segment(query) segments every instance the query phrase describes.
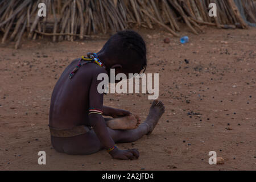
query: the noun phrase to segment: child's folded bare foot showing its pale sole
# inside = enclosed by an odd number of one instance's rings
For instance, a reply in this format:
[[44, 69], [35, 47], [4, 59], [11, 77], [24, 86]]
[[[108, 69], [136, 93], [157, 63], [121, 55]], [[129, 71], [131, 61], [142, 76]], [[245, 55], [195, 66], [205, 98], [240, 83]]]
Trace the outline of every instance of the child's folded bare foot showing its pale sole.
[[114, 118], [106, 122], [106, 125], [113, 130], [133, 130], [137, 129], [141, 119], [137, 115], [130, 114], [122, 118]]

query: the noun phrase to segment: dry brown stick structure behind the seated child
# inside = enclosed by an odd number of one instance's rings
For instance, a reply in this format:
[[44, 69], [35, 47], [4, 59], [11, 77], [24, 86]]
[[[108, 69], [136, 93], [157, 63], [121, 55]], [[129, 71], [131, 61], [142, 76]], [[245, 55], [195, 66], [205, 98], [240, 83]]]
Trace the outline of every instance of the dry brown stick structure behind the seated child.
[[[241, 0], [238, 0], [241, 1]], [[46, 4], [46, 17], [38, 16], [38, 4]], [[208, 5], [217, 5], [217, 17], [208, 15]], [[255, 1], [243, 0], [246, 18], [256, 22]], [[179, 36], [177, 22], [184, 22], [194, 34], [200, 24], [218, 28], [247, 28], [234, 0], [3, 0], [0, 1], [2, 43], [23, 35], [35, 40], [52, 36], [52, 41], [75, 40], [107, 34], [135, 25], [153, 28], [158, 24]]]

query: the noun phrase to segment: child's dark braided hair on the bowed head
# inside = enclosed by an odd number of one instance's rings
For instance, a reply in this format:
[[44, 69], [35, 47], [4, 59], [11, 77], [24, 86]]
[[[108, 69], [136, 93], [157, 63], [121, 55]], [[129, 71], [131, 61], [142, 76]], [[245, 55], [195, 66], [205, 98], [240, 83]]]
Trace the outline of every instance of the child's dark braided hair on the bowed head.
[[122, 64], [127, 66], [141, 64], [141, 70], [146, 70], [146, 44], [141, 35], [133, 30], [119, 31], [114, 34], [106, 42], [102, 51], [114, 60], [122, 60]]

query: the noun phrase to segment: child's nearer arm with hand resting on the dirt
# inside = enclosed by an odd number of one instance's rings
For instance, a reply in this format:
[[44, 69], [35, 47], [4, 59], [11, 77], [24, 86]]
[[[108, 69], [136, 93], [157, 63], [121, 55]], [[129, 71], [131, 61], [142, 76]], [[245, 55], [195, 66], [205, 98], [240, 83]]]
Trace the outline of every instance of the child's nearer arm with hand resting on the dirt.
[[[98, 93], [97, 86], [101, 82], [97, 80], [98, 74], [102, 72], [101, 69], [97, 69], [94, 72], [92, 78], [92, 84], [90, 85], [89, 91], [89, 107], [94, 107], [96, 109], [102, 110], [103, 107], [103, 94]], [[93, 127], [98, 139], [105, 146], [106, 149], [112, 148], [114, 146], [114, 140], [110, 137], [109, 131], [106, 127], [106, 122], [102, 115], [100, 114], [89, 114], [89, 122]], [[114, 159], [135, 159], [139, 157], [137, 150], [123, 151], [115, 148], [109, 153]]]

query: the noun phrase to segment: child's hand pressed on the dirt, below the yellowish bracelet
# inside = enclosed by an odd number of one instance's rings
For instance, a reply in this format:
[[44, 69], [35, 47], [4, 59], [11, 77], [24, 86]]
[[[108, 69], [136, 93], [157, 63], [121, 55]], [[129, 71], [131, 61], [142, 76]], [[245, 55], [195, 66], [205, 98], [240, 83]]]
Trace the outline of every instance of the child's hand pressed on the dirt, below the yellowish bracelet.
[[121, 160], [133, 160], [139, 158], [139, 151], [136, 149], [132, 150], [119, 150], [118, 148], [109, 152], [113, 159], [121, 159]]

